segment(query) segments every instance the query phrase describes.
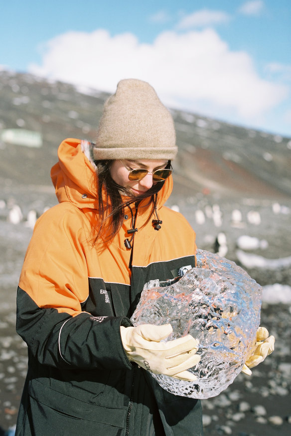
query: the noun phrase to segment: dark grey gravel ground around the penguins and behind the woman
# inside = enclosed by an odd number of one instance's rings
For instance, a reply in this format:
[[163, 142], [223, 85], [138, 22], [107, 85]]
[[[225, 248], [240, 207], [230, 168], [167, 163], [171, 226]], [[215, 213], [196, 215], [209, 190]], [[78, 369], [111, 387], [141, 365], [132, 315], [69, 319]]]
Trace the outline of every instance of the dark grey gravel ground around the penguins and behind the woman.
[[[22, 194], [24, 195], [19, 187], [19, 197], [16, 192], [12, 195], [10, 193], [10, 196], [16, 198], [25, 215], [32, 208], [32, 204], [29, 204], [29, 201], [23, 201], [21, 204]], [[38, 213], [44, 206], [52, 205], [51, 194], [49, 192], [45, 198], [42, 192], [33, 199], [33, 206]], [[31, 193], [27, 195], [31, 196]], [[8, 195], [4, 200], [7, 202]], [[183, 207], [180, 209], [190, 222], [192, 220], [199, 248], [211, 251], [215, 235], [219, 231], [224, 231], [229, 248], [225, 257], [228, 259], [237, 261], [235, 241], [240, 235], [257, 235], [259, 239], [268, 240], [272, 250], [257, 254], [271, 259], [290, 256], [290, 214], [272, 215], [271, 203], [267, 206], [258, 206], [262, 216], [260, 226], [246, 224], [242, 229], [232, 229], [230, 225], [228, 217], [234, 205], [221, 205], [224, 215], [220, 228], [215, 228], [210, 219], [202, 225], [195, 223], [193, 217], [197, 206], [192, 205], [192, 212], [190, 206], [185, 207], [185, 210]], [[254, 208], [254, 205], [244, 207], [242, 211], [246, 215], [248, 209]], [[26, 345], [15, 332], [15, 297], [25, 249], [32, 233], [32, 230], [24, 225], [25, 218], [18, 225], [13, 225], [6, 221], [5, 213], [5, 210], [0, 213], [0, 436], [16, 423], [26, 375]], [[291, 286], [290, 267], [274, 271], [257, 268], [249, 271], [249, 274], [264, 286], [276, 282]], [[261, 324], [276, 338], [275, 352], [266, 362], [253, 370], [251, 377], [240, 374], [219, 396], [202, 400], [205, 436], [291, 434], [291, 304], [264, 303], [261, 319]]]

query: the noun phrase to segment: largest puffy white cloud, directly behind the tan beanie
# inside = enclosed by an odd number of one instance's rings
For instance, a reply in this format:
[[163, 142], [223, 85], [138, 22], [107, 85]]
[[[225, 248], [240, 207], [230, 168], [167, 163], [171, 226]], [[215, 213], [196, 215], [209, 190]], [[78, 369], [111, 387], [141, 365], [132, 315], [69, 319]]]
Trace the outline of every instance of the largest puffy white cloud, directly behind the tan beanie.
[[68, 32], [46, 44], [29, 71], [114, 92], [119, 80], [149, 82], [170, 107], [241, 123], [259, 120], [287, 97], [288, 87], [263, 80], [246, 52], [231, 51], [213, 29], [162, 32], [152, 44], [131, 33]]

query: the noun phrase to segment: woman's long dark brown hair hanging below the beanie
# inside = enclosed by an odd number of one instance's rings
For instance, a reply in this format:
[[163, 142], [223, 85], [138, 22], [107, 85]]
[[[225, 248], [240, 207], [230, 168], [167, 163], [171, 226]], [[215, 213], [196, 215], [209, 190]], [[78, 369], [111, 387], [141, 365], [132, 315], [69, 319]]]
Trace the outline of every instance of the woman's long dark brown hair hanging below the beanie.
[[[113, 239], [124, 222], [125, 208], [127, 206], [130, 207], [133, 203], [138, 205], [145, 198], [148, 198], [145, 207], [151, 205], [151, 213], [146, 221], [147, 223], [155, 211], [157, 193], [164, 184], [164, 181], [155, 183], [144, 194], [133, 195], [131, 191], [116, 183], [111, 177], [110, 168], [113, 161], [111, 159], [94, 161], [97, 167], [97, 195], [100, 220], [95, 243], [98, 243], [100, 235], [107, 242]], [[166, 168], [170, 168], [170, 166], [171, 162], [168, 161]], [[126, 197], [126, 200], [123, 197]]]

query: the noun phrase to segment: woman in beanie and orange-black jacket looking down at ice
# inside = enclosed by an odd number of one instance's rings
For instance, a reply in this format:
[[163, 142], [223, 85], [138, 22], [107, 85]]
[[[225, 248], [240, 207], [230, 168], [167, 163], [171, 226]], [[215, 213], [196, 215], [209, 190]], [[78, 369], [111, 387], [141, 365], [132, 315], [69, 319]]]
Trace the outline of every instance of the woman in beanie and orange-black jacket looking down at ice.
[[96, 145], [64, 141], [59, 204], [37, 221], [17, 292], [28, 374], [16, 435], [202, 435], [200, 402], [149, 372], [193, 380], [189, 335], [129, 318], [152, 279], [195, 266], [195, 233], [163, 206], [176, 155], [170, 113], [146, 82], [122, 80]]

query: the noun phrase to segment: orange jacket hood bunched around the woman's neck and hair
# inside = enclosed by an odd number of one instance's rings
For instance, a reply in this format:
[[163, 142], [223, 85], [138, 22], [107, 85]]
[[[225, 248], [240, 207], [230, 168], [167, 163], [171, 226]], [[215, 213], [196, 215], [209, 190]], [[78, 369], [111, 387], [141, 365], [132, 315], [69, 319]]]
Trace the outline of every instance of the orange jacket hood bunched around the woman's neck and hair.
[[[59, 161], [51, 169], [51, 179], [59, 203], [70, 201], [80, 209], [98, 209], [96, 166], [92, 158], [93, 144], [66, 139], [58, 148]], [[172, 176], [158, 192], [158, 208], [170, 196]]]

